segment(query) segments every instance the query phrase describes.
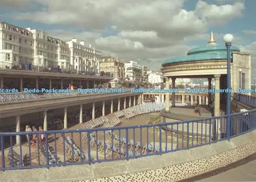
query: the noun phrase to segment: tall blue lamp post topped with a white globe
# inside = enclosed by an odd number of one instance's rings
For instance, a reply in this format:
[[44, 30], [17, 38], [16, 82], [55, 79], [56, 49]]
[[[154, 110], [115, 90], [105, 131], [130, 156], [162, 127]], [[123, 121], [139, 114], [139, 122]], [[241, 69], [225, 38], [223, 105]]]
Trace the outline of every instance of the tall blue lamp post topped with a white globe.
[[225, 41], [225, 45], [227, 48], [227, 105], [226, 105], [226, 115], [227, 115], [227, 140], [230, 139], [230, 131], [231, 131], [231, 121], [230, 121], [230, 113], [231, 113], [231, 93], [229, 89], [231, 89], [231, 77], [230, 77], [230, 47], [231, 41], [233, 40], [233, 36], [231, 34], [226, 34], [223, 37]]

